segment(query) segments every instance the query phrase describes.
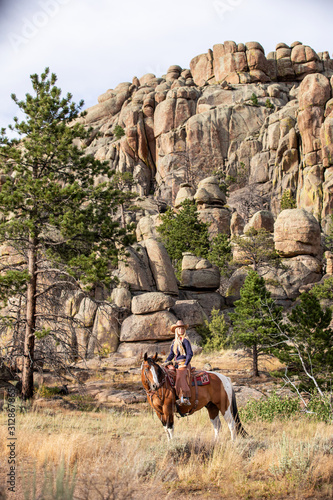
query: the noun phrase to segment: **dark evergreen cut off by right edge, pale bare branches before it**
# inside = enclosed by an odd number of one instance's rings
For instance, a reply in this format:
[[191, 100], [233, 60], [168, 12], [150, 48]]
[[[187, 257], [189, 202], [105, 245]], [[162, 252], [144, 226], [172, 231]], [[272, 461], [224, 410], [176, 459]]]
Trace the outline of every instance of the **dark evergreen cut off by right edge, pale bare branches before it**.
[[[283, 326], [285, 343], [275, 355], [308, 389], [330, 389], [333, 373], [333, 332], [329, 328], [332, 311], [322, 309], [318, 298], [303, 293]], [[317, 387], [317, 388], [318, 388]]]

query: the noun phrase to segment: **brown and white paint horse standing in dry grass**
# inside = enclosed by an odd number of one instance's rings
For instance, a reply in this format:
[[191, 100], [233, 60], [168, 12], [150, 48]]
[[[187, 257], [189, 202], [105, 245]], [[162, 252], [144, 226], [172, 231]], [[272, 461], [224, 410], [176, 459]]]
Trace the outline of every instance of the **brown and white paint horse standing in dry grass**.
[[173, 437], [175, 411], [184, 416], [191, 415], [204, 406], [207, 408], [213, 424], [215, 437], [218, 436], [221, 428], [219, 412], [222, 413], [228, 424], [232, 440], [237, 435], [247, 435], [239, 418], [235, 392], [228, 377], [221, 373], [207, 372], [210, 383], [197, 387], [197, 393], [196, 388], [192, 386], [191, 406], [179, 407], [176, 404], [176, 393], [170, 384], [169, 377], [157, 361], [157, 354], [150, 358], [145, 353], [141, 366], [141, 380], [148, 402], [161, 420], [169, 439]]

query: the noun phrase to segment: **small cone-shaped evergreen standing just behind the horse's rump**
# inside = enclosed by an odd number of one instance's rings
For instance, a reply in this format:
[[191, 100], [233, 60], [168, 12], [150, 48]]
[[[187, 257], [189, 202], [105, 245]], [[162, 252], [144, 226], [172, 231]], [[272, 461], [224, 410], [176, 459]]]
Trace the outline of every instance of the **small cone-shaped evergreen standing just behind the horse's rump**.
[[259, 356], [270, 353], [279, 342], [276, 323], [281, 321], [281, 308], [271, 299], [264, 279], [252, 269], [240, 295], [240, 300], [235, 302], [235, 312], [230, 315], [233, 343], [251, 353], [252, 374], [257, 377]]

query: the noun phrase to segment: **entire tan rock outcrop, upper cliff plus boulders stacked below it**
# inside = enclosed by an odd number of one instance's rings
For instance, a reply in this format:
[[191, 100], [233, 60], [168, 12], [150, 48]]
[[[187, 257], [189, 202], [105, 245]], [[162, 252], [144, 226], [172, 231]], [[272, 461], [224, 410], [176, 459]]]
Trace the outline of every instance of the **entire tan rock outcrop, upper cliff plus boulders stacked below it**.
[[[226, 41], [194, 57], [190, 69], [172, 65], [163, 77], [134, 77], [98, 98], [80, 118], [91, 127], [80, 146], [110, 171], [132, 174], [138, 197], [125, 222], [136, 224], [138, 243], [114, 271], [116, 288], [66, 295], [64, 314], [75, 324], [71, 357], [164, 355], [171, 324], [182, 319], [198, 340], [195, 327], [212, 309], [239, 297], [248, 262], [235, 248], [244, 267], [223, 295], [219, 269], [189, 253], [177, 280], [156, 228], [161, 213], [180, 210], [186, 199], [197, 203], [211, 239], [270, 233], [284, 264], [265, 274], [275, 299], [295, 299], [321, 280], [322, 233], [333, 212], [332, 87], [328, 52], [294, 42], [266, 55], [258, 42]], [[297, 208], [281, 211], [286, 192]], [[326, 253], [328, 275], [332, 262]], [[22, 257], [3, 245], [1, 268], [8, 263], [19, 267]]]

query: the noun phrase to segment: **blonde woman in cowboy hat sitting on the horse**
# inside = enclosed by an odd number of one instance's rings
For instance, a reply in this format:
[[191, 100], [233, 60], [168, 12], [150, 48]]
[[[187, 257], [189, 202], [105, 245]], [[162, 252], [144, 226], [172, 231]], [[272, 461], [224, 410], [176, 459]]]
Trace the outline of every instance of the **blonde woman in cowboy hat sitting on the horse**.
[[177, 404], [191, 406], [190, 397], [191, 389], [189, 387], [191, 378], [191, 359], [193, 351], [191, 342], [186, 334], [188, 325], [185, 325], [181, 320], [172, 325], [170, 330], [175, 334], [175, 340], [171, 344], [170, 354], [167, 357], [165, 364], [168, 365], [170, 361], [175, 358], [177, 369], [176, 372], [176, 393], [179, 397]]

